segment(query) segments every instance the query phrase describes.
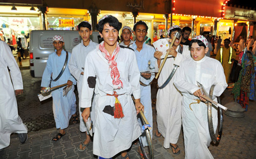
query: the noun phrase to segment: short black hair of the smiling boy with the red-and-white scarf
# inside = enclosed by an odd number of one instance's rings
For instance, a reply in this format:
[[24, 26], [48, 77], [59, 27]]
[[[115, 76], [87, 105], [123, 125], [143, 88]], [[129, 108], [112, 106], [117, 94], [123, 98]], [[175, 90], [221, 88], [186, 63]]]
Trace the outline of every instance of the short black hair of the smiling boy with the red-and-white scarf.
[[115, 28], [118, 32], [122, 28], [122, 23], [118, 21], [118, 19], [112, 15], [105, 17], [104, 19], [100, 20], [96, 26], [97, 31], [102, 33], [104, 25], [109, 23], [110, 26]]

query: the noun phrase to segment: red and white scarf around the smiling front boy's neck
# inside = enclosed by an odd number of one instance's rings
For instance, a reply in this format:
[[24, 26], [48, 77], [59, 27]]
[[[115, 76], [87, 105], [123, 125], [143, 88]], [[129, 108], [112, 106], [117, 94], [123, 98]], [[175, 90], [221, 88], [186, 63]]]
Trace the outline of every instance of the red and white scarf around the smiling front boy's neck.
[[115, 57], [116, 57], [117, 53], [120, 50], [120, 46], [119, 46], [119, 44], [117, 44], [117, 47], [116, 47], [112, 57], [110, 57], [108, 55], [108, 51], [105, 49], [104, 46], [105, 46], [104, 42], [99, 44], [99, 50], [105, 54], [105, 59], [108, 60], [109, 66], [111, 68], [110, 74], [111, 74], [111, 78], [113, 79], [112, 83], [114, 85], [114, 89], [123, 88], [123, 83], [122, 83], [121, 80], [119, 80], [120, 74], [119, 74], [119, 71], [117, 69], [117, 63], [115, 61]]

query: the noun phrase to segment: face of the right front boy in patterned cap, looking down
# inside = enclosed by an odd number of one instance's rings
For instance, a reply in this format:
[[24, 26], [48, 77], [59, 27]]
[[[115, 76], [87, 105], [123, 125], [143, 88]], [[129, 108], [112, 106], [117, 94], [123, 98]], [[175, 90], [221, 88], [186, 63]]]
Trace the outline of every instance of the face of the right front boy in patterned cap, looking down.
[[190, 47], [190, 52], [191, 52], [191, 57], [195, 61], [200, 61], [201, 59], [204, 58], [205, 54], [208, 51], [208, 47], [204, 49], [204, 46], [199, 46], [197, 42], [192, 43]]

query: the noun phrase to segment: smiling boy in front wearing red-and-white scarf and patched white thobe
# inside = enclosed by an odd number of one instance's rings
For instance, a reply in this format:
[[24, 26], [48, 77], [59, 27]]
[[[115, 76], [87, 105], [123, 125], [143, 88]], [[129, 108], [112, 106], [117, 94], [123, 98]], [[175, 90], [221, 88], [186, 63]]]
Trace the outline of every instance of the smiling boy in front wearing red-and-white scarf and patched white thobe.
[[81, 107], [85, 109], [82, 117], [87, 121], [94, 92], [93, 153], [99, 158], [111, 158], [119, 152], [121, 158], [129, 158], [126, 150], [141, 135], [136, 116], [136, 110], [139, 113], [143, 108], [140, 72], [134, 51], [117, 42], [121, 26], [122, 23], [111, 15], [99, 20], [97, 30], [104, 41], [87, 55], [84, 65]]

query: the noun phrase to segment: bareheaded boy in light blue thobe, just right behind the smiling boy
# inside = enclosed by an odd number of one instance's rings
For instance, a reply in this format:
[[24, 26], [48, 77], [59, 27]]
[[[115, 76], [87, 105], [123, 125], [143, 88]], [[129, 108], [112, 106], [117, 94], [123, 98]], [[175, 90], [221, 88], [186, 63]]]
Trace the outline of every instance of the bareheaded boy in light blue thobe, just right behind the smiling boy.
[[[134, 49], [136, 60], [139, 66], [140, 72], [143, 71], [153, 71], [155, 72], [155, 64], [156, 58], [154, 57], [155, 48], [144, 43], [145, 36], [147, 35], [147, 25], [144, 21], [138, 21], [134, 25], [134, 35], [136, 36], [135, 42], [130, 45], [131, 48]], [[152, 115], [152, 102], [151, 102], [151, 86], [150, 84], [154, 80], [155, 73], [141, 73], [140, 76], [140, 102], [144, 105], [144, 115], [150, 123], [152, 129], [150, 130], [150, 134], [152, 137], [153, 131], [153, 115]], [[142, 122], [140, 118], [138, 119], [140, 125], [142, 126]], [[143, 133], [143, 131], [142, 131]], [[142, 143], [143, 146], [148, 146], [146, 134], [142, 135]], [[141, 153], [140, 147], [138, 148], [141, 157], [143, 157]]]

